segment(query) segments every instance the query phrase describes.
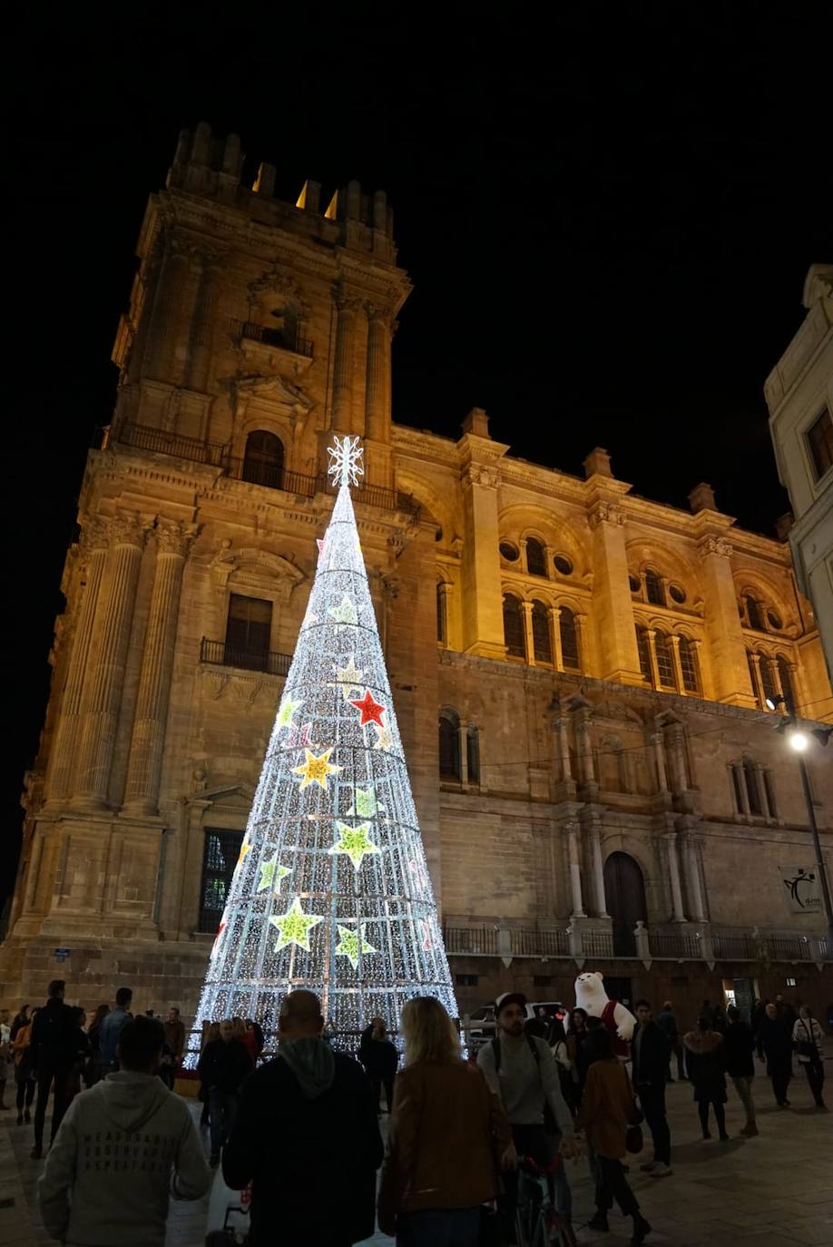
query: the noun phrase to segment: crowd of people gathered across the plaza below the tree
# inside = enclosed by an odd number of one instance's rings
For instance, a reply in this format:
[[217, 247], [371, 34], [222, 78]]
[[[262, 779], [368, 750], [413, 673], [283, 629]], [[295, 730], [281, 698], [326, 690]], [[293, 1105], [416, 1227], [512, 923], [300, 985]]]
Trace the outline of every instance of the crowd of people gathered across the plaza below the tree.
[[464, 1056], [454, 1021], [421, 996], [403, 1009], [399, 1069], [384, 1018], [362, 1033], [357, 1061], [338, 1050], [318, 998], [296, 990], [282, 1001], [277, 1060], [262, 1061], [254, 1020], [203, 1023], [196, 1075], [206, 1155], [186, 1101], [173, 1094], [186, 1051], [178, 1009], [165, 1023], [150, 1011], [135, 1016], [131, 990], [120, 988], [115, 1006], [100, 1005], [86, 1026], [64, 994], [55, 980], [41, 1008], [24, 1005], [11, 1023], [0, 1013], [0, 1106], [12, 1084], [25, 1125], [37, 1096], [37, 1160], [51, 1096], [39, 1203], [46, 1230], [77, 1247], [110, 1241], [110, 1227], [127, 1247], [162, 1247], [168, 1193], [198, 1198], [219, 1165], [231, 1188], [251, 1183], [252, 1247], [272, 1242], [276, 1221], [308, 1247], [347, 1247], [373, 1235], [377, 1215], [399, 1247], [513, 1243], [522, 1172], [545, 1176], [551, 1228], [571, 1242], [565, 1160], [581, 1155], [595, 1190], [590, 1228], [607, 1231], [617, 1203], [632, 1220], [631, 1243], [642, 1243], [651, 1226], [625, 1160], [641, 1150], [643, 1122], [653, 1156], [641, 1170], [672, 1175], [666, 1085], [675, 1062], [677, 1080], [691, 1084], [705, 1140], [712, 1117], [720, 1140], [728, 1139], [727, 1079], [744, 1112], [741, 1135], [758, 1134], [756, 1051], [778, 1106], [789, 1107], [796, 1059], [824, 1109], [824, 1033], [807, 1006], [782, 998], [757, 1003], [751, 1024], [733, 1006], [725, 1014], [703, 1001], [685, 1034], [670, 1001], [655, 1016], [638, 1000], [625, 1061], [601, 1018], [580, 1008], [530, 1018], [520, 993], [496, 1001], [494, 1038]]

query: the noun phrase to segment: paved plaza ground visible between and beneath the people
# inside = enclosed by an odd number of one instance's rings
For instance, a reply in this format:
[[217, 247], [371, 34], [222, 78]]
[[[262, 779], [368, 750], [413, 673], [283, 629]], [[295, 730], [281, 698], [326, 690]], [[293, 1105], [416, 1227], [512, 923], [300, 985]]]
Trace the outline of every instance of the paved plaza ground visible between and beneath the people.
[[[828, 1051], [828, 1100], [833, 1105], [833, 1051]], [[652, 1180], [638, 1172], [633, 1157], [631, 1182], [655, 1232], [656, 1247], [759, 1247], [773, 1243], [833, 1245], [833, 1112], [818, 1112], [803, 1075], [791, 1085], [792, 1109], [776, 1107], [769, 1081], [754, 1085], [758, 1105], [757, 1139], [738, 1137], [741, 1106], [729, 1087], [727, 1124], [731, 1140], [703, 1142], [691, 1089], [668, 1087], [672, 1135], [671, 1177]], [[6, 1096], [9, 1090], [6, 1091]], [[195, 1109], [197, 1106], [195, 1105]], [[384, 1119], [383, 1119], [384, 1121]], [[47, 1135], [49, 1137], [49, 1127]], [[646, 1131], [646, 1152], [650, 1156]], [[45, 1247], [46, 1237], [35, 1205], [35, 1183], [42, 1161], [30, 1160], [31, 1126], [15, 1125], [15, 1114], [0, 1114], [0, 1243], [4, 1247]], [[575, 1197], [575, 1223], [594, 1212], [592, 1187], [585, 1160], [567, 1172]], [[202, 1247], [208, 1200], [171, 1206], [166, 1247]], [[627, 1242], [630, 1221], [611, 1215], [611, 1233], [579, 1232], [582, 1243]], [[282, 1247], [276, 1235], [276, 1247]], [[390, 1247], [377, 1235], [367, 1247]], [[287, 1245], [289, 1247], [289, 1245]]]

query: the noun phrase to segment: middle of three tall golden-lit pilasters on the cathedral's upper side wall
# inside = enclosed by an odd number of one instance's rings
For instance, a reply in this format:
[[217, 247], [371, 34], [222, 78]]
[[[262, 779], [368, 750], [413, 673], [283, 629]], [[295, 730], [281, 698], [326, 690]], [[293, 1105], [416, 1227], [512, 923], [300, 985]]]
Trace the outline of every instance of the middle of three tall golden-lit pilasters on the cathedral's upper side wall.
[[627, 580], [625, 516], [601, 500], [590, 513], [594, 536], [594, 619], [602, 680], [643, 685]]

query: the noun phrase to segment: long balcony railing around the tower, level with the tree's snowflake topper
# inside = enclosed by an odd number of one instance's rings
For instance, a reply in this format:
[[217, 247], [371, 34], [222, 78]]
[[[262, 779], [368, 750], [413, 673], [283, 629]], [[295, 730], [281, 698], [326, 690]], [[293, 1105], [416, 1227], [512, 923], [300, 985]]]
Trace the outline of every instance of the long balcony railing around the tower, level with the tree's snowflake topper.
[[[281, 489], [287, 494], [297, 494], [302, 498], [338, 493], [338, 485], [325, 473], [312, 476], [306, 473], [288, 471], [278, 464], [269, 464], [261, 459], [241, 459], [229, 454], [217, 441], [185, 438], [143, 424], [122, 424], [111, 435], [111, 441], [131, 446], [135, 450], [148, 450], [152, 454], [207, 464], [211, 468], [218, 468], [234, 480], [244, 480], [266, 489]], [[419, 503], [413, 495], [403, 494], [395, 489], [385, 489], [383, 485], [355, 485], [352, 494], [354, 501], [375, 506], [383, 511], [402, 511], [405, 515], [416, 515], [419, 511]]]

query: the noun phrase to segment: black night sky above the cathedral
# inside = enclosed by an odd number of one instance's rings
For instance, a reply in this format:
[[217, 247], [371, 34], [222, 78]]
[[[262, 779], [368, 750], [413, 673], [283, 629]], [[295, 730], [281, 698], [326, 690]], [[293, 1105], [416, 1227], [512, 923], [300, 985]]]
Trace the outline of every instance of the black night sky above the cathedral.
[[788, 506], [762, 385], [833, 253], [821, 4], [90, 7], [6, 17], [0, 904], [85, 454], [182, 126], [239, 133], [248, 183], [267, 160], [293, 202], [307, 177], [388, 191], [415, 287], [394, 419], [456, 436], [484, 407], [516, 455], [581, 474], [602, 445], [636, 493], [686, 506], [708, 480], [762, 532]]

